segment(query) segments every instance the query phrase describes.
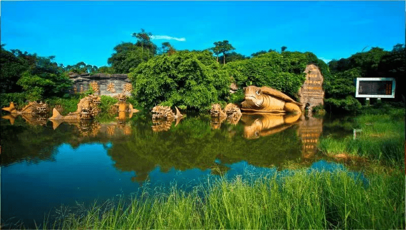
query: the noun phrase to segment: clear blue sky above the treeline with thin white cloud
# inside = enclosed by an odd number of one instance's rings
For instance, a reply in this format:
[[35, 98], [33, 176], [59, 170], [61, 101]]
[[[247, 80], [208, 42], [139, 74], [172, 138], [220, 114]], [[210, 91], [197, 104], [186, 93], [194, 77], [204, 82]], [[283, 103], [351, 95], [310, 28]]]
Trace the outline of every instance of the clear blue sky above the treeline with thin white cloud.
[[136, 42], [131, 33], [141, 28], [157, 46], [177, 50], [228, 40], [247, 56], [286, 46], [328, 61], [404, 44], [405, 2], [1, 2], [5, 48], [55, 55], [65, 66], [106, 65], [113, 48]]

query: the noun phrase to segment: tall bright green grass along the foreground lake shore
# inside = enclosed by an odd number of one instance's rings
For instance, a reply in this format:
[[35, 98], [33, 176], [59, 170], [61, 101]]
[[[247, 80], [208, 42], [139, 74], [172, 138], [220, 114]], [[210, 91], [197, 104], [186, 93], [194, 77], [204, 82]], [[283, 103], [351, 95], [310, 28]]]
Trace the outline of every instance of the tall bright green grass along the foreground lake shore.
[[[404, 175], [370, 175], [368, 185], [348, 172], [297, 170], [248, 182], [236, 177], [210, 181], [190, 193], [147, 190], [129, 204], [94, 205], [51, 228], [405, 228]], [[45, 223], [46, 224], [46, 223]], [[48, 225], [49, 226], [49, 225]], [[43, 226], [42, 226], [43, 227]]]

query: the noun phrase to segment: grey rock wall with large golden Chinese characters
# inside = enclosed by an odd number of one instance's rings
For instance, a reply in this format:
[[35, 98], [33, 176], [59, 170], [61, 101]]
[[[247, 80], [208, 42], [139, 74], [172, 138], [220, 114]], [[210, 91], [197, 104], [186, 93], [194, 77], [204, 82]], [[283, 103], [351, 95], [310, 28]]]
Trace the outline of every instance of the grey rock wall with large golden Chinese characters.
[[115, 96], [125, 93], [129, 96], [132, 90], [127, 74], [70, 73], [69, 78], [74, 82], [72, 93], [80, 93], [91, 87], [97, 95]]

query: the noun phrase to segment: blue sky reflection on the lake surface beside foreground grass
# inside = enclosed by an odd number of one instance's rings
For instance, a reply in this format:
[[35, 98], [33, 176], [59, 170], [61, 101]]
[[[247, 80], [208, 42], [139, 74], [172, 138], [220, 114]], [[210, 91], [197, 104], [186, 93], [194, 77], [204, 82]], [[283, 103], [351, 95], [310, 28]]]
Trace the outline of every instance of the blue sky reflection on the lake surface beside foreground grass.
[[[7, 220], [15, 216], [31, 224], [32, 219], [42, 222], [44, 213], [54, 207], [75, 205], [75, 201], [90, 204], [96, 199], [103, 201], [116, 197], [137, 193], [140, 184], [132, 182], [134, 172], [122, 172], [114, 167], [114, 162], [107, 155], [112, 143], [87, 143], [72, 148], [62, 144], [56, 148], [55, 160], [43, 161], [38, 164], [15, 163], [1, 170], [1, 214]], [[216, 164], [222, 165], [216, 159]], [[258, 176], [286, 175], [290, 170], [277, 171], [277, 168], [255, 167], [242, 161], [234, 164], [223, 164], [228, 167], [226, 178], [232, 179], [242, 175], [243, 179], [255, 179]], [[333, 172], [345, 169], [343, 165], [318, 161], [310, 168]], [[136, 172], [137, 173], [137, 172]], [[354, 179], [359, 178], [366, 183], [361, 173], [349, 172]], [[218, 178], [211, 174], [211, 169], [188, 169], [184, 171], [175, 168], [161, 172], [157, 166], [149, 172], [145, 186], [163, 189], [177, 185], [189, 190], [193, 186], [204, 184], [208, 177]]]

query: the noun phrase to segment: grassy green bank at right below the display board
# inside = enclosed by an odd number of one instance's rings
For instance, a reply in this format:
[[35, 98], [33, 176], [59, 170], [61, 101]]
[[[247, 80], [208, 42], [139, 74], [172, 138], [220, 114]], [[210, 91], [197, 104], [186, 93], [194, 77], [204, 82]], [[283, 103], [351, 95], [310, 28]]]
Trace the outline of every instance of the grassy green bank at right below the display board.
[[404, 167], [404, 111], [404, 108], [391, 108], [380, 114], [358, 116], [355, 121], [361, 131], [355, 139], [327, 136], [320, 138], [318, 148], [336, 159], [379, 161], [387, 166]]

